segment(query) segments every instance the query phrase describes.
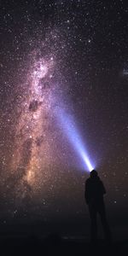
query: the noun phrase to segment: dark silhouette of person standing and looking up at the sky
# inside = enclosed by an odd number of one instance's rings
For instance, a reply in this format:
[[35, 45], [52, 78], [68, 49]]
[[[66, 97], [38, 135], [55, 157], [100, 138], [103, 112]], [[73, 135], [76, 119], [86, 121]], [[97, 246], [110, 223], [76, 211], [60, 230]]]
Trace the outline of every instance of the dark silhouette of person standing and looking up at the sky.
[[84, 197], [87, 205], [89, 206], [90, 221], [91, 221], [91, 241], [96, 242], [97, 239], [97, 223], [96, 215], [99, 213], [104, 235], [106, 241], [111, 241], [111, 234], [106, 218], [105, 205], [103, 201], [103, 195], [106, 193], [104, 185], [98, 177], [95, 170], [90, 172], [90, 177], [85, 182]]

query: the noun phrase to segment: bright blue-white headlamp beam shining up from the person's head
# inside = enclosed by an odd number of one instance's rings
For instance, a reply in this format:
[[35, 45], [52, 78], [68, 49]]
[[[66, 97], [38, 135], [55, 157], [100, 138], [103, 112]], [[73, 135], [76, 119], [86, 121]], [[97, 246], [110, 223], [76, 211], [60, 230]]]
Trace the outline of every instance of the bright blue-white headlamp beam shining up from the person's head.
[[70, 143], [73, 144], [73, 148], [75, 148], [75, 150], [79, 153], [81, 158], [84, 160], [84, 164], [87, 166], [88, 171], [91, 172], [94, 169], [94, 166], [92, 166], [90, 163], [89, 156], [84, 148], [83, 140], [79, 136], [79, 131], [74, 124], [73, 117], [67, 115], [67, 113], [65, 113], [65, 111], [61, 108], [57, 109], [57, 116], [63, 131], [67, 135]]

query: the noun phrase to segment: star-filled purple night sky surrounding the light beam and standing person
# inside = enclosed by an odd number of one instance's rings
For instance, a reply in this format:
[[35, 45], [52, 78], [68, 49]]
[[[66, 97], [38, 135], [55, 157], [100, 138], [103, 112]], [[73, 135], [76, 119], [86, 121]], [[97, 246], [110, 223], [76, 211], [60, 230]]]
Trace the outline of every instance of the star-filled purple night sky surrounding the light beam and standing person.
[[3, 222], [88, 218], [89, 172], [63, 131], [60, 108], [105, 184], [109, 215], [126, 219], [127, 15], [124, 0], [0, 1]]

